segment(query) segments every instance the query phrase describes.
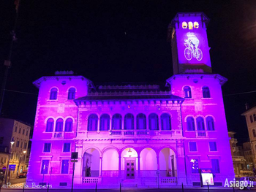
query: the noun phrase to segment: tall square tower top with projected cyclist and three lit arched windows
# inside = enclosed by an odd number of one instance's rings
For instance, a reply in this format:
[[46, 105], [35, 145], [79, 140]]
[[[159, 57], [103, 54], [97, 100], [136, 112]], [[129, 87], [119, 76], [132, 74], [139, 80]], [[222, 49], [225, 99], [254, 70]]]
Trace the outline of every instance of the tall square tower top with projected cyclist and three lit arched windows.
[[210, 47], [206, 34], [208, 17], [203, 12], [179, 12], [169, 31], [173, 73], [211, 73]]

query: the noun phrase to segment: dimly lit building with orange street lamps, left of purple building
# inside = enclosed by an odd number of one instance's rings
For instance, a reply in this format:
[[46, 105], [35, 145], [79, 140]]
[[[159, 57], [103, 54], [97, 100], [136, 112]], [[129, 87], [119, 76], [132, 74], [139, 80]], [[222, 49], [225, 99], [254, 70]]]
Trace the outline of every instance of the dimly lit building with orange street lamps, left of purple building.
[[7, 170], [8, 162], [10, 165], [15, 165], [15, 170], [10, 172], [10, 177], [18, 177], [19, 173], [27, 169], [26, 151], [30, 130], [31, 126], [27, 123], [0, 118], [0, 169]]

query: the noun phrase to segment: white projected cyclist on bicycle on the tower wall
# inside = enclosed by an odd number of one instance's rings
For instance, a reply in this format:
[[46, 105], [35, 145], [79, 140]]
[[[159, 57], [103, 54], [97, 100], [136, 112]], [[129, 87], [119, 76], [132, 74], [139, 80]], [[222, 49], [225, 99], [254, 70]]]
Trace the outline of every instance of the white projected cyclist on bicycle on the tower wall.
[[203, 58], [203, 52], [198, 48], [199, 39], [195, 36], [194, 33], [188, 32], [187, 39], [184, 39], [184, 45], [186, 46], [184, 50], [185, 58], [190, 61], [192, 58], [196, 58], [197, 61], [201, 61]]

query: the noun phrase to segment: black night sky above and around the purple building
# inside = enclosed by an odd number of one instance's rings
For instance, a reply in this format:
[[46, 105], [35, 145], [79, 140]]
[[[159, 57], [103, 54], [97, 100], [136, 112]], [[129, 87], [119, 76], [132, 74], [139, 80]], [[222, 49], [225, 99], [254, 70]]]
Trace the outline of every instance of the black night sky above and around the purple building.
[[[0, 75], [3, 79], [11, 0], [0, 3]], [[165, 82], [173, 75], [167, 26], [176, 12], [205, 12], [214, 73], [228, 78], [224, 95], [256, 90], [256, 1], [20, 0], [7, 89], [37, 94], [34, 80], [72, 70], [93, 82]], [[1, 84], [0, 84], [1, 85]], [[241, 113], [256, 93], [224, 96], [227, 126], [248, 137]], [[37, 95], [7, 91], [4, 117], [31, 124]]]

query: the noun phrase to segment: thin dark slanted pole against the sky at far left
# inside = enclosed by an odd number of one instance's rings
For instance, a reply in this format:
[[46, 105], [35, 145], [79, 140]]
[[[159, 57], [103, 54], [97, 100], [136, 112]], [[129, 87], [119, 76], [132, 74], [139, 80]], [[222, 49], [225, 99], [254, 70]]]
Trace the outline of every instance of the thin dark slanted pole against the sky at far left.
[[6, 84], [7, 84], [8, 71], [11, 67], [12, 45], [13, 45], [13, 42], [15, 42], [15, 40], [16, 40], [15, 30], [16, 30], [17, 23], [18, 23], [18, 8], [19, 8], [19, 5], [20, 5], [20, 0], [16, 0], [15, 5], [16, 5], [16, 7], [15, 7], [15, 9], [16, 9], [15, 23], [14, 23], [14, 26], [13, 26], [12, 30], [10, 31], [11, 40], [10, 40], [10, 45], [9, 45], [8, 57], [4, 61], [4, 66], [5, 66], [4, 79], [3, 79], [3, 84], [2, 84], [2, 87], [1, 87], [1, 93], [0, 93], [0, 116], [1, 116], [1, 110], [3, 108], [4, 93], [5, 93], [5, 87], [6, 87]]

